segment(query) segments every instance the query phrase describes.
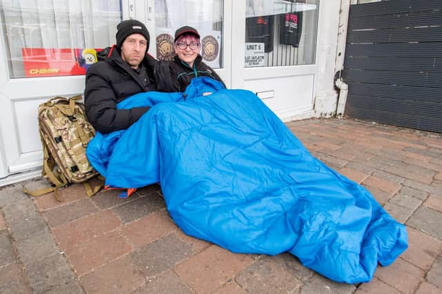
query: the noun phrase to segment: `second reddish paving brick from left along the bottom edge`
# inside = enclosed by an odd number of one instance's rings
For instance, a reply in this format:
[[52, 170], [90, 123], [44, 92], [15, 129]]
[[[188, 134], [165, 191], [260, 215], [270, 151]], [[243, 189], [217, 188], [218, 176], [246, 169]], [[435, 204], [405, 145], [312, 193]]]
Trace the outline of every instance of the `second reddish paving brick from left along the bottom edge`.
[[86, 293], [108, 294], [131, 293], [145, 281], [143, 275], [133, 266], [131, 258], [126, 255], [84, 275], [80, 282]]

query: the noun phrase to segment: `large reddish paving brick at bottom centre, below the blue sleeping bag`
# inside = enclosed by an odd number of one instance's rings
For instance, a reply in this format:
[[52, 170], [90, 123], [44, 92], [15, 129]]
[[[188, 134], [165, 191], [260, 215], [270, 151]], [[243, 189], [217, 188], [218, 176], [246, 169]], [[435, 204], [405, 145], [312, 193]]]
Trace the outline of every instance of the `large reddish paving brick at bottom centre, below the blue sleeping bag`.
[[220, 288], [252, 262], [249, 255], [231, 253], [212, 245], [175, 266], [174, 271], [196, 293], [209, 293]]

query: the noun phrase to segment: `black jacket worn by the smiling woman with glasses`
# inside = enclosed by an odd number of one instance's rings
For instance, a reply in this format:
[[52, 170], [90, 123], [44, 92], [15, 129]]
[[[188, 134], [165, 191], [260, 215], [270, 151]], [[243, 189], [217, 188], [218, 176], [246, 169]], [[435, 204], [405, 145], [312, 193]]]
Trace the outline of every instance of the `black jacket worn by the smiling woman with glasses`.
[[202, 62], [201, 55], [196, 57], [193, 68], [177, 56], [173, 61], [160, 61], [155, 67], [157, 90], [162, 92], [184, 92], [194, 77], [211, 77], [226, 86], [215, 70]]

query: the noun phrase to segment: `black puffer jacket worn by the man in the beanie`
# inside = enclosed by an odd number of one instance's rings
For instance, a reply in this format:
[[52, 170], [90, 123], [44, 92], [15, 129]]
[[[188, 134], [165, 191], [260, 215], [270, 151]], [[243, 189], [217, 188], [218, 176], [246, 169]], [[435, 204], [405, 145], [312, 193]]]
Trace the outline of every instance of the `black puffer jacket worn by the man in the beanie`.
[[98, 62], [86, 74], [84, 100], [90, 124], [100, 133], [126, 129], [146, 112], [148, 107], [117, 110], [117, 103], [127, 97], [156, 90], [153, 68], [157, 61], [146, 55], [143, 66], [147, 75], [138, 75], [115, 46], [98, 54]]

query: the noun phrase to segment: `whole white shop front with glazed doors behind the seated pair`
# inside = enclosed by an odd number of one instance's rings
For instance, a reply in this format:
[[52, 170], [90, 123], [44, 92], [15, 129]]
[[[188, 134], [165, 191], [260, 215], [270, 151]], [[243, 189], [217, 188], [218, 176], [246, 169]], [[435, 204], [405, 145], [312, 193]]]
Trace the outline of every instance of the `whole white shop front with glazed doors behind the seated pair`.
[[256, 92], [285, 121], [314, 116], [320, 18], [330, 7], [319, 2], [0, 0], [0, 186], [39, 175], [37, 106], [83, 92], [86, 70], [115, 43], [122, 19], [146, 23], [149, 53], [160, 60], [173, 58], [176, 28], [197, 28], [204, 62], [228, 88]]

